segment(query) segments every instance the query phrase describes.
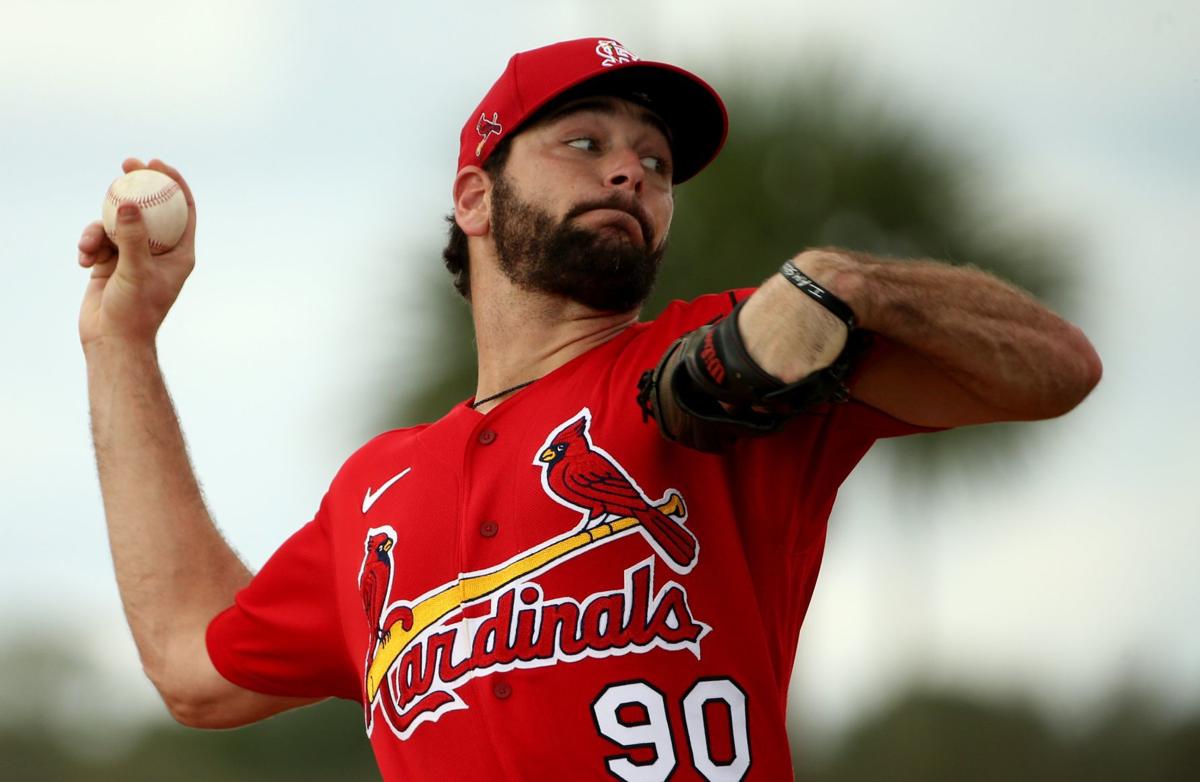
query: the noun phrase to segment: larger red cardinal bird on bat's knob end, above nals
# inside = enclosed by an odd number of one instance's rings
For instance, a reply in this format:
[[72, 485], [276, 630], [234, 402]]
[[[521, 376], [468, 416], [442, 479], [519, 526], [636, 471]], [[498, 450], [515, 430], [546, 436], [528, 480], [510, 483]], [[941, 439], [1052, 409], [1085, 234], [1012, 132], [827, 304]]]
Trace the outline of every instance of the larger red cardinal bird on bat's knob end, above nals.
[[[546, 439], [534, 464], [541, 468], [541, 485], [550, 497], [566, 507], [582, 511], [581, 528], [592, 528], [612, 518], [637, 519], [642, 534], [662, 560], [676, 572], [690, 572], [700, 546], [691, 530], [659, 506], [682, 504], [674, 489], [652, 501], [612, 456], [592, 443], [588, 433], [592, 411], [583, 408]], [[673, 497], [672, 497], [673, 495]]]

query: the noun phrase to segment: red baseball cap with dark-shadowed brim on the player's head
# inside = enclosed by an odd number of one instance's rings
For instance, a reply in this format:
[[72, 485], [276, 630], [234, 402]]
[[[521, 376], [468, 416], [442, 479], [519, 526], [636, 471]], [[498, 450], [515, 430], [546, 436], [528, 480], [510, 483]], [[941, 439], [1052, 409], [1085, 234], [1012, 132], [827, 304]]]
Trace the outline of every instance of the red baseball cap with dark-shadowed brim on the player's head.
[[576, 94], [625, 97], [654, 112], [671, 131], [676, 184], [713, 162], [728, 133], [725, 103], [698, 76], [641, 60], [612, 38], [577, 38], [512, 55], [462, 126], [458, 169], [482, 166], [540, 108]]

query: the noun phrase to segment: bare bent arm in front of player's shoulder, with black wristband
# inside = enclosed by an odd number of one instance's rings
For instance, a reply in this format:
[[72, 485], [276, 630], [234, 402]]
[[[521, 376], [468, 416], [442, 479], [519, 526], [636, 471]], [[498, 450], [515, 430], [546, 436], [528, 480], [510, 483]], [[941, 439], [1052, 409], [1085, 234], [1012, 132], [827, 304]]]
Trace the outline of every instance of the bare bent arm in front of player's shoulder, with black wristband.
[[[793, 263], [882, 337], [852, 390], [898, 417], [931, 426], [1051, 417], [1099, 380], [1099, 359], [1079, 329], [979, 270], [844, 251], [809, 251]], [[750, 315], [751, 355], [784, 379], [803, 377], [814, 368], [802, 360], [811, 351], [804, 335], [838, 333], [835, 319], [781, 276], [755, 296], [742, 324]]]

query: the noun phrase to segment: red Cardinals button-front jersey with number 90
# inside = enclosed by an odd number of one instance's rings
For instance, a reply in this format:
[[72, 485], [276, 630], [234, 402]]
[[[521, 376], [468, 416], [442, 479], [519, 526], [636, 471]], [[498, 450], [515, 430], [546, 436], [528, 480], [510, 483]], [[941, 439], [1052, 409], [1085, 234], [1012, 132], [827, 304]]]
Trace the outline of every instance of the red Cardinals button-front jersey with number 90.
[[920, 428], [848, 402], [722, 455], [666, 441], [638, 377], [749, 293], [371, 440], [212, 621], [217, 669], [359, 700], [385, 780], [791, 780], [787, 685], [838, 487]]

